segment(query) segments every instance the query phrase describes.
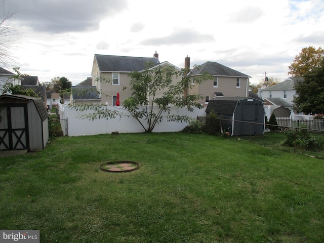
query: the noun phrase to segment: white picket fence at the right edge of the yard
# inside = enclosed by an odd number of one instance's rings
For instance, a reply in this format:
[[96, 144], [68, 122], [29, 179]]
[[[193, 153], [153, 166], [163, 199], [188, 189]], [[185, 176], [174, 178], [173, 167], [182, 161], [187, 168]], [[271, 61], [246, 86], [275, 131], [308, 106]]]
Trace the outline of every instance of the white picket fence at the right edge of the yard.
[[280, 127], [299, 128], [306, 126], [311, 130], [324, 131], [324, 120], [313, 118], [313, 115], [292, 114], [290, 117], [276, 117], [276, 120]]

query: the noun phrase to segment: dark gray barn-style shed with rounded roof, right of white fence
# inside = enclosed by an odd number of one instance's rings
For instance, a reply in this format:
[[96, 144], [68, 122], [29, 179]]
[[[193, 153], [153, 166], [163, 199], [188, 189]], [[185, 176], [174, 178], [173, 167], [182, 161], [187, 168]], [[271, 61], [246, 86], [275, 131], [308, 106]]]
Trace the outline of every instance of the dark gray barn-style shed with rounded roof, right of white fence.
[[221, 120], [221, 127], [232, 136], [264, 134], [265, 111], [262, 100], [252, 97], [215, 98], [208, 103], [207, 115], [212, 110], [218, 118], [227, 119]]

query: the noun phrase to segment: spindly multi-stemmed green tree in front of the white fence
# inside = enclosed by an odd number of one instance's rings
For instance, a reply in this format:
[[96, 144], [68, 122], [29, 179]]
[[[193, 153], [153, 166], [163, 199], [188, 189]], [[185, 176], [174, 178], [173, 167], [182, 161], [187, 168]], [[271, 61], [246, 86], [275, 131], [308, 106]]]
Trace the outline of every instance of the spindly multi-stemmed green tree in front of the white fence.
[[[208, 79], [213, 79], [208, 73], [191, 77], [185, 75], [188, 69], [176, 70], [174, 66], [148, 66], [144, 71], [131, 72], [130, 89], [133, 91], [131, 97], [124, 101], [124, 108], [139, 122], [145, 132], [152, 132], [155, 125], [164, 118], [167, 120], [191, 121], [186, 115], [171, 115], [170, 106], [186, 107], [189, 111], [193, 111], [195, 107], [201, 108], [201, 104], [197, 101], [202, 99], [198, 94], [188, 94], [183, 96], [184, 91], [191, 89], [192, 81], [200, 84]], [[174, 77], [182, 77], [180, 82], [173, 84]], [[103, 78], [100, 79], [103, 81]], [[111, 80], [105, 80], [111, 82]], [[125, 89], [124, 89], [125, 90]], [[158, 97], [158, 92], [163, 91], [163, 96]], [[83, 118], [113, 118], [116, 115], [122, 115], [119, 112], [104, 110], [100, 107], [84, 105], [76, 107], [78, 110], [94, 109], [94, 113], [83, 115]], [[168, 115], [164, 116], [164, 113]]]

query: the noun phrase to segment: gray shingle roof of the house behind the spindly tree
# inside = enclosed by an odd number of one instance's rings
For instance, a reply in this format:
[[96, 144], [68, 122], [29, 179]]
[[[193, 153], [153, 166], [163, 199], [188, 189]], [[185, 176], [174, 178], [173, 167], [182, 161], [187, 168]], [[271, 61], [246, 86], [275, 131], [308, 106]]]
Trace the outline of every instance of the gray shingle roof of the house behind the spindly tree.
[[100, 71], [131, 72], [145, 68], [147, 63], [159, 64], [157, 58], [150, 57], [125, 57], [95, 54]]

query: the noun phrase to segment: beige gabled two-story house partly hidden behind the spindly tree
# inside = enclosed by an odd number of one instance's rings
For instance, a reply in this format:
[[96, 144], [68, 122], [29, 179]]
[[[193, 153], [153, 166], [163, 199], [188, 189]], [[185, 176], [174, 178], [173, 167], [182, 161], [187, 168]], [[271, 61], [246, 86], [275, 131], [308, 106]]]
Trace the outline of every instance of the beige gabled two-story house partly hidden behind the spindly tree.
[[[159, 65], [172, 65], [167, 61], [160, 63], [156, 52], [152, 58], [95, 54], [91, 73], [92, 86], [97, 88], [101, 104], [114, 106], [117, 100], [117, 93], [119, 93], [120, 103], [123, 104], [124, 100], [129, 98], [133, 92], [130, 89], [131, 77], [129, 73], [142, 71], [148, 64], [153, 65], [152, 68]], [[178, 67], [174, 67], [180, 70]], [[175, 76], [173, 83], [176, 84], [181, 78]], [[155, 98], [163, 96], [163, 93], [163, 90], [157, 91]]]

